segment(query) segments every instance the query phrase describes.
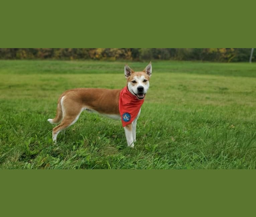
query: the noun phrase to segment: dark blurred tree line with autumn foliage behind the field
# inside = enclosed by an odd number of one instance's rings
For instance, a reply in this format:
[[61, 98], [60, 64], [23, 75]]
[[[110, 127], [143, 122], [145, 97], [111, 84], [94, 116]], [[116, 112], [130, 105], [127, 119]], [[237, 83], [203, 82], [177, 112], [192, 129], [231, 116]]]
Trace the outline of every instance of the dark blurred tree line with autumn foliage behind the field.
[[[201, 60], [247, 62], [251, 48], [0, 48], [0, 59]], [[256, 59], [254, 52], [252, 61]]]

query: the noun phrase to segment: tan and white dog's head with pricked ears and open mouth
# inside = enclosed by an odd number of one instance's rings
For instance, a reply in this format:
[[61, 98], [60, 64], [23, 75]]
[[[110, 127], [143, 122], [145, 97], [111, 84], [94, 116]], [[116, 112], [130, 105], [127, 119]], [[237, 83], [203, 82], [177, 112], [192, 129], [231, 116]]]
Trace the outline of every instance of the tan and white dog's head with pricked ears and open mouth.
[[152, 74], [151, 62], [143, 71], [133, 71], [127, 64], [124, 66], [128, 90], [138, 99], [144, 99], [149, 88], [149, 79]]

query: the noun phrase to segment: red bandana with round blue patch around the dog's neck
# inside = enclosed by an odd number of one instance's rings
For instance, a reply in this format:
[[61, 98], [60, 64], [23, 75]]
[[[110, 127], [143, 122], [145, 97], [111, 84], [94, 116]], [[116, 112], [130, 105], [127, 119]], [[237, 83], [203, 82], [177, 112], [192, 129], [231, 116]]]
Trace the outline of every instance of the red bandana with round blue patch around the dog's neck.
[[133, 122], [137, 117], [144, 99], [138, 99], [126, 87], [121, 90], [119, 96], [119, 113], [123, 127]]

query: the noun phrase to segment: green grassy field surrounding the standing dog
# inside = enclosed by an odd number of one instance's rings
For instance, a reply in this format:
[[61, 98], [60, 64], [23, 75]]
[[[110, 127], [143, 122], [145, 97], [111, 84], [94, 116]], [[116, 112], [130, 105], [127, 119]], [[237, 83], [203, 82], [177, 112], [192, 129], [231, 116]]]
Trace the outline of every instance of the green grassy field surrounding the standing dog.
[[54, 145], [59, 95], [123, 88], [125, 63], [0, 60], [0, 168], [255, 169], [255, 63], [152, 61], [134, 149], [121, 121], [87, 112]]

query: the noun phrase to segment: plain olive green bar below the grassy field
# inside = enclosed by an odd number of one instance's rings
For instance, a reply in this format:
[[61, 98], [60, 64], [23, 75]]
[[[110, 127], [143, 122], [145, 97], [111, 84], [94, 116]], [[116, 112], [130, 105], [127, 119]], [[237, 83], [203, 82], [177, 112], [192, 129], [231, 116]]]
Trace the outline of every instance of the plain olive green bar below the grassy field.
[[1, 212], [9, 216], [249, 216], [256, 193], [252, 170], [5, 170], [0, 175]]

